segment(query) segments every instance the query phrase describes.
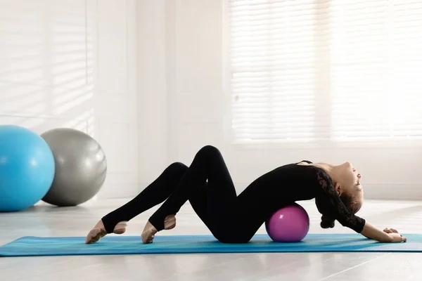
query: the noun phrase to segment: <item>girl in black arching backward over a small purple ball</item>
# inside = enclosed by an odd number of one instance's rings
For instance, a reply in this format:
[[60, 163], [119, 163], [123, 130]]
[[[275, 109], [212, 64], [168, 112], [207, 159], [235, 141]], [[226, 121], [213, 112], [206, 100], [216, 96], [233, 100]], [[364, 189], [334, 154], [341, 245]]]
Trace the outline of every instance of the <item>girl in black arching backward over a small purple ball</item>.
[[164, 202], [149, 218], [141, 235], [143, 243], [151, 243], [155, 233], [176, 226], [175, 216], [189, 200], [217, 240], [245, 243], [274, 211], [314, 198], [322, 214], [322, 228], [333, 228], [337, 220], [379, 242], [405, 242], [407, 238], [397, 230], [379, 230], [355, 215], [363, 201], [361, 178], [349, 162], [334, 166], [302, 161], [269, 171], [236, 195], [221, 153], [207, 145], [198, 151], [191, 166], [171, 164], [133, 200], [101, 218], [85, 242], [97, 242], [108, 233], [124, 233], [127, 221]]

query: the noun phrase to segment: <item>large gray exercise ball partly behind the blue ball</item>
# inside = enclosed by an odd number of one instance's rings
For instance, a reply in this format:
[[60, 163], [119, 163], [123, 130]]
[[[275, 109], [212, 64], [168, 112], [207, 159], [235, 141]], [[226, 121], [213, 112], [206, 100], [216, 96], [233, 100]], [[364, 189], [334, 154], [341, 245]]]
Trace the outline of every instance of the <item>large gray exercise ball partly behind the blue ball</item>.
[[90, 200], [106, 181], [106, 155], [91, 136], [75, 129], [41, 134], [53, 152], [56, 174], [44, 202], [70, 207]]

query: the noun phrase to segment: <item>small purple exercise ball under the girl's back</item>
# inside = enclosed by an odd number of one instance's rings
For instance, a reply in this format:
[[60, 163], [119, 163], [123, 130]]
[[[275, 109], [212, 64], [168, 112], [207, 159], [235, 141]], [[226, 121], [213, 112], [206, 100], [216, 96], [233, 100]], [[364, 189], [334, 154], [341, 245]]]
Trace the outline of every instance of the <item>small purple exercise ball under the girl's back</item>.
[[290, 204], [272, 214], [265, 229], [275, 242], [300, 242], [309, 231], [309, 216], [299, 204]]

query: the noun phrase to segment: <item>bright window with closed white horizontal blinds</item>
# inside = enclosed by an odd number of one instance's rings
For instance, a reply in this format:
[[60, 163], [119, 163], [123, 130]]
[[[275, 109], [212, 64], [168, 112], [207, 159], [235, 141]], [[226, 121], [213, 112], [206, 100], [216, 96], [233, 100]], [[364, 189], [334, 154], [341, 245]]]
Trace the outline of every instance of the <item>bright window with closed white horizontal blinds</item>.
[[236, 142], [422, 136], [422, 1], [228, 1]]

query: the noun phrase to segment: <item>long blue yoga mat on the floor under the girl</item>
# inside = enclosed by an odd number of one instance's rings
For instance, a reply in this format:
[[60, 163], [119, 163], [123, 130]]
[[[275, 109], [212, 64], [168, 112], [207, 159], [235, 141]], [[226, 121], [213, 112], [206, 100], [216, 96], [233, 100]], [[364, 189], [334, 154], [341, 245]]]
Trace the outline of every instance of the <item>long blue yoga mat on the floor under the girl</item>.
[[142, 244], [139, 236], [106, 236], [95, 244], [84, 237], [22, 237], [0, 247], [0, 256], [83, 256], [117, 254], [279, 253], [327, 251], [422, 252], [422, 235], [410, 234], [407, 242], [379, 243], [358, 234], [309, 234], [302, 242], [273, 242], [255, 235], [246, 244], [223, 244], [210, 235], [157, 236]]

